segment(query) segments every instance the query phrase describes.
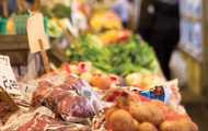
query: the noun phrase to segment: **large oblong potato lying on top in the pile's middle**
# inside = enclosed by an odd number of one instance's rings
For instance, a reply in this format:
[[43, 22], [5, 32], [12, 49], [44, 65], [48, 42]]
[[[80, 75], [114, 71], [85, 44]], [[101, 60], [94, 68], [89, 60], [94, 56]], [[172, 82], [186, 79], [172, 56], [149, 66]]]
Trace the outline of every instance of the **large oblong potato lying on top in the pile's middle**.
[[165, 118], [163, 111], [158, 106], [149, 103], [130, 103], [129, 112], [139, 122], [151, 122], [154, 126], [159, 126]]

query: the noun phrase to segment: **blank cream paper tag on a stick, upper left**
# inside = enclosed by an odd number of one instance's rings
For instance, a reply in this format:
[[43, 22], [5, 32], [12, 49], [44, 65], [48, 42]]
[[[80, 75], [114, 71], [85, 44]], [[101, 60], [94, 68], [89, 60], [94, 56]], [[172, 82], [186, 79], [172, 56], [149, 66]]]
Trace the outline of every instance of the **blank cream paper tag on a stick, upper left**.
[[26, 29], [32, 53], [42, 51], [39, 40], [42, 40], [44, 50], [49, 49], [50, 46], [48, 37], [45, 34], [44, 17], [42, 13], [34, 13], [31, 17], [28, 17]]

